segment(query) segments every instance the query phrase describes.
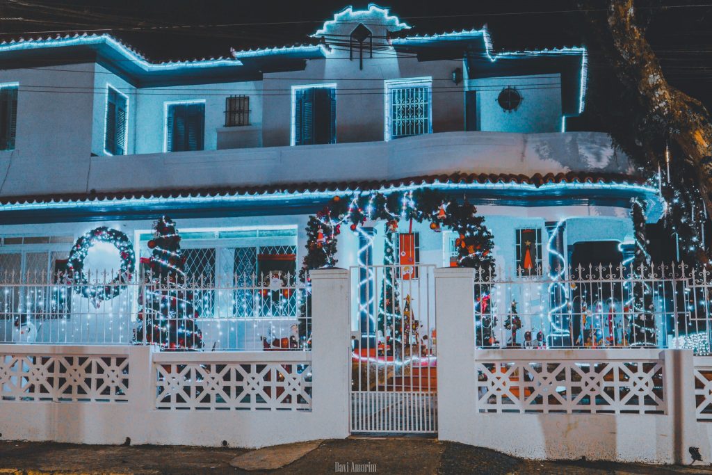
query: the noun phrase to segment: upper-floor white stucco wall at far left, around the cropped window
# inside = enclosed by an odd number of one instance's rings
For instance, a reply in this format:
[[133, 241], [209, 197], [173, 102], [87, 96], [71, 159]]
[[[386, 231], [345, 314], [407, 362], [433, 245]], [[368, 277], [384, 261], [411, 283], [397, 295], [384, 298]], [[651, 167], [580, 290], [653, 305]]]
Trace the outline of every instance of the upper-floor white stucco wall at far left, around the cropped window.
[[0, 151], [0, 194], [78, 188], [90, 167], [94, 65], [0, 71], [19, 83], [15, 150]]

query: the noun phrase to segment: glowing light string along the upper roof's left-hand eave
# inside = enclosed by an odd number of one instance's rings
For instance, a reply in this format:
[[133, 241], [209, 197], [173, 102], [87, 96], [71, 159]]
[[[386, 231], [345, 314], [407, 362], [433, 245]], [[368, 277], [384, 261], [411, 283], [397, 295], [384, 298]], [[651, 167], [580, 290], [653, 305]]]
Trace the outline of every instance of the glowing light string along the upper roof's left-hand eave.
[[103, 33], [101, 35], [76, 35], [64, 38], [29, 39], [0, 43], [0, 53], [4, 51], [22, 51], [34, 48], [59, 48], [62, 46], [82, 46], [106, 44], [127, 58], [127, 61], [140, 66], [144, 71], [166, 71], [180, 68], [208, 68], [211, 66], [243, 66], [238, 59], [210, 59], [197, 61], [169, 61], [164, 63], [150, 63], [138, 53], [128, 48], [113, 36]]

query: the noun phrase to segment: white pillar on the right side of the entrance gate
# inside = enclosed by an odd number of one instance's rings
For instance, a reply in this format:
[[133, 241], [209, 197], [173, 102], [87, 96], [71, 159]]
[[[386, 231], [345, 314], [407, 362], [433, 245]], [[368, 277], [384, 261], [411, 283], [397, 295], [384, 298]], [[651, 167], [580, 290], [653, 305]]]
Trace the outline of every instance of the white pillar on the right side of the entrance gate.
[[476, 413], [475, 295], [472, 268], [435, 269], [438, 437], [466, 442]]

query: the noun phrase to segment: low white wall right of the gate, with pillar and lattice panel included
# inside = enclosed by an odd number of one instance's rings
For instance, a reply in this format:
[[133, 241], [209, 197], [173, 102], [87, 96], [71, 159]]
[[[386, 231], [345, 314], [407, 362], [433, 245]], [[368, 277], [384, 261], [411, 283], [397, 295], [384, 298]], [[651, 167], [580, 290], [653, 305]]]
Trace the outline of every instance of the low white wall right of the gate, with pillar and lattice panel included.
[[475, 350], [471, 269], [436, 270], [439, 437], [530, 459], [710, 459], [691, 350]]

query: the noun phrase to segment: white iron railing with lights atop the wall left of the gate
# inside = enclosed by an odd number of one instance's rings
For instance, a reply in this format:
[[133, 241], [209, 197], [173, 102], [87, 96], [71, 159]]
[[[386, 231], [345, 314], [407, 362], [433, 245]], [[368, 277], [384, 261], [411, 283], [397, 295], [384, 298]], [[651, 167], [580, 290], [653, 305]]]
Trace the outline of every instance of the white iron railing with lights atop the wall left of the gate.
[[[112, 281], [112, 275], [88, 276], [95, 292], [86, 297], [83, 287], [61, 274], [0, 274], [0, 343], [154, 340], [164, 348], [205, 351], [310, 346], [310, 289], [293, 274], [235, 275], [219, 282], [189, 276], [182, 283], [138, 276]], [[193, 327], [194, 334], [186, 335], [185, 329]]]

